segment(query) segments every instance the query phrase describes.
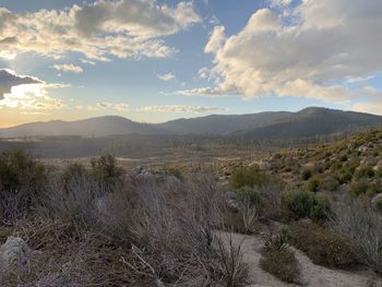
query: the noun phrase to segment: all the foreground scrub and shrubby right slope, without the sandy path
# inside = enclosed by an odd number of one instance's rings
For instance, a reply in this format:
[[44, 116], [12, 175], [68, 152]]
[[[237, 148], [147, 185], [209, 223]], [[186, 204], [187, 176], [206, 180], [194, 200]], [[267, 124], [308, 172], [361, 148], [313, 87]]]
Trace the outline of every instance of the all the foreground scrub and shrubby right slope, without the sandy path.
[[112, 156], [56, 169], [1, 153], [0, 240], [22, 238], [34, 252], [0, 283], [246, 286], [251, 266], [220, 231], [262, 235], [260, 266], [286, 283], [303, 284], [296, 249], [314, 264], [381, 276], [381, 146], [382, 132], [370, 131], [276, 154], [227, 174], [228, 184], [169, 166], [124, 170]]

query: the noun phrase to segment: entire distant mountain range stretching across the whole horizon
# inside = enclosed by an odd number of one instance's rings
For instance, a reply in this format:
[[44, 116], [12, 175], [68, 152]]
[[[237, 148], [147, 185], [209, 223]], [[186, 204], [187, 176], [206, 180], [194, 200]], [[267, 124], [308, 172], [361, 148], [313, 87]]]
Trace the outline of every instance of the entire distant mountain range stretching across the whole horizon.
[[79, 121], [48, 121], [0, 129], [0, 137], [21, 136], [107, 136], [126, 134], [211, 134], [241, 140], [298, 139], [354, 132], [382, 125], [382, 117], [327, 108], [306, 108], [297, 112], [268, 111], [250, 115], [212, 115], [164, 123], [139, 123], [107, 116]]

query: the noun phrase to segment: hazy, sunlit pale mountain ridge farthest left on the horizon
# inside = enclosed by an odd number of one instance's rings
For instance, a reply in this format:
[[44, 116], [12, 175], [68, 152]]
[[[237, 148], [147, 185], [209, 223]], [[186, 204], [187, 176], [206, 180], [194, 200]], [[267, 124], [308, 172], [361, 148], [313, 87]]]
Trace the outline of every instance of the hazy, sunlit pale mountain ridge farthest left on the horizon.
[[139, 123], [122, 117], [106, 116], [79, 121], [32, 122], [0, 129], [0, 137], [82, 135], [107, 136], [115, 134], [163, 133], [154, 124]]

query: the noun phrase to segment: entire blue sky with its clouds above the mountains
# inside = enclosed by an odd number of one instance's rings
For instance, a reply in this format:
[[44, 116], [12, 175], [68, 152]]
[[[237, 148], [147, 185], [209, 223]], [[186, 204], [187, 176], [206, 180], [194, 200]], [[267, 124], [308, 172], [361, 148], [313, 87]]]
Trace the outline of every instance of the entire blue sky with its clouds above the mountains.
[[0, 128], [382, 115], [381, 0], [0, 0]]

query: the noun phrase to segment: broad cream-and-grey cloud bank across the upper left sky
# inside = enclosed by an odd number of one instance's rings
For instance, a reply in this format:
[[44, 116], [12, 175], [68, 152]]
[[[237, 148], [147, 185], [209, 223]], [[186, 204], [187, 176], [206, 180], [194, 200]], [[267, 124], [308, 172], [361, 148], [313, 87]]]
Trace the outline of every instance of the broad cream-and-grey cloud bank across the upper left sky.
[[60, 58], [80, 52], [104, 61], [111, 56], [168, 57], [175, 49], [163, 37], [199, 22], [192, 2], [186, 1], [169, 7], [156, 0], [97, 0], [22, 13], [0, 8], [0, 56], [32, 51]]

